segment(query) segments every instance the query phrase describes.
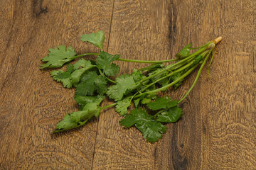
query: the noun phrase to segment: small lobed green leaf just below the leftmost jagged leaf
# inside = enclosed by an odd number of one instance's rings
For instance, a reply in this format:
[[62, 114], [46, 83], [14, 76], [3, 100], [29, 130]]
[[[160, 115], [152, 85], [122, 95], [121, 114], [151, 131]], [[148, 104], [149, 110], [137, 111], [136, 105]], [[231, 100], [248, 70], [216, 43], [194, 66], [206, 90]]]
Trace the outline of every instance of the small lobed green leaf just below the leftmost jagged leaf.
[[63, 86], [66, 88], [71, 88], [73, 83], [70, 80], [70, 74], [73, 72], [73, 64], [68, 64], [66, 72], [63, 70], [53, 70], [50, 72], [50, 75], [55, 79], [56, 81], [61, 81], [63, 83]]

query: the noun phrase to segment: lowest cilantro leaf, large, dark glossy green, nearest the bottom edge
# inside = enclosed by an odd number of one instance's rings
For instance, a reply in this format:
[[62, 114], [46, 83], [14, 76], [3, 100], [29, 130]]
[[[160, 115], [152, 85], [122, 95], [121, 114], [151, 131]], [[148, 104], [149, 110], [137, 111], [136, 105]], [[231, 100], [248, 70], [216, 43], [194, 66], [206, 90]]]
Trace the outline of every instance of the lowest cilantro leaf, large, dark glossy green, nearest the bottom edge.
[[166, 132], [166, 127], [154, 120], [153, 116], [146, 113], [142, 108], [135, 108], [131, 114], [126, 115], [119, 122], [125, 128], [135, 125], [149, 142], [156, 142], [161, 139], [161, 133]]

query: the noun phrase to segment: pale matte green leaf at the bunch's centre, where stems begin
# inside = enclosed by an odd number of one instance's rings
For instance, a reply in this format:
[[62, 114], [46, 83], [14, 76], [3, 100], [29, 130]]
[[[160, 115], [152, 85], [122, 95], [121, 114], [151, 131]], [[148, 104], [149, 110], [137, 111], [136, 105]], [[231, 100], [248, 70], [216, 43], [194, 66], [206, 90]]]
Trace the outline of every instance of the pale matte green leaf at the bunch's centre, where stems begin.
[[117, 84], [107, 89], [107, 96], [114, 99], [114, 101], [120, 101], [125, 94], [137, 87], [133, 77], [129, 74], [120, 75], [116, 81]]

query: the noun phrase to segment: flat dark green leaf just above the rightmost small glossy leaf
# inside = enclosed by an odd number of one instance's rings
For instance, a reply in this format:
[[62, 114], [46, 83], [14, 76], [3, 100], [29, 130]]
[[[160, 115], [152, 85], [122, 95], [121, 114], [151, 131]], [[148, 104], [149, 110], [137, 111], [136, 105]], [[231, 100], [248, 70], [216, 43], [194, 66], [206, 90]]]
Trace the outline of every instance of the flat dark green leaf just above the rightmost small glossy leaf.
[[169, 97], [156, 98], [156, 101], [147, 103], [146, 106], [152, 111], [157, 111], [161, 108], [172, 108], [178, 105], [178, 101], [171, 101]]

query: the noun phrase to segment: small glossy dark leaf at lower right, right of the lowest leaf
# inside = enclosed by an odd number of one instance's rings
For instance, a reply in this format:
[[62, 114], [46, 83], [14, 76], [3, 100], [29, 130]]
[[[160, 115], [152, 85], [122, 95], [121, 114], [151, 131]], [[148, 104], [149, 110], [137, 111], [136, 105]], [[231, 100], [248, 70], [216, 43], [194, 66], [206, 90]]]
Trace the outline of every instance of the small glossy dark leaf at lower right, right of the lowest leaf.
[[156, 120], [161, 123], [175, 123], [183, 115], [181, 108], [178, 106], [169, 108], [157, 116]]

